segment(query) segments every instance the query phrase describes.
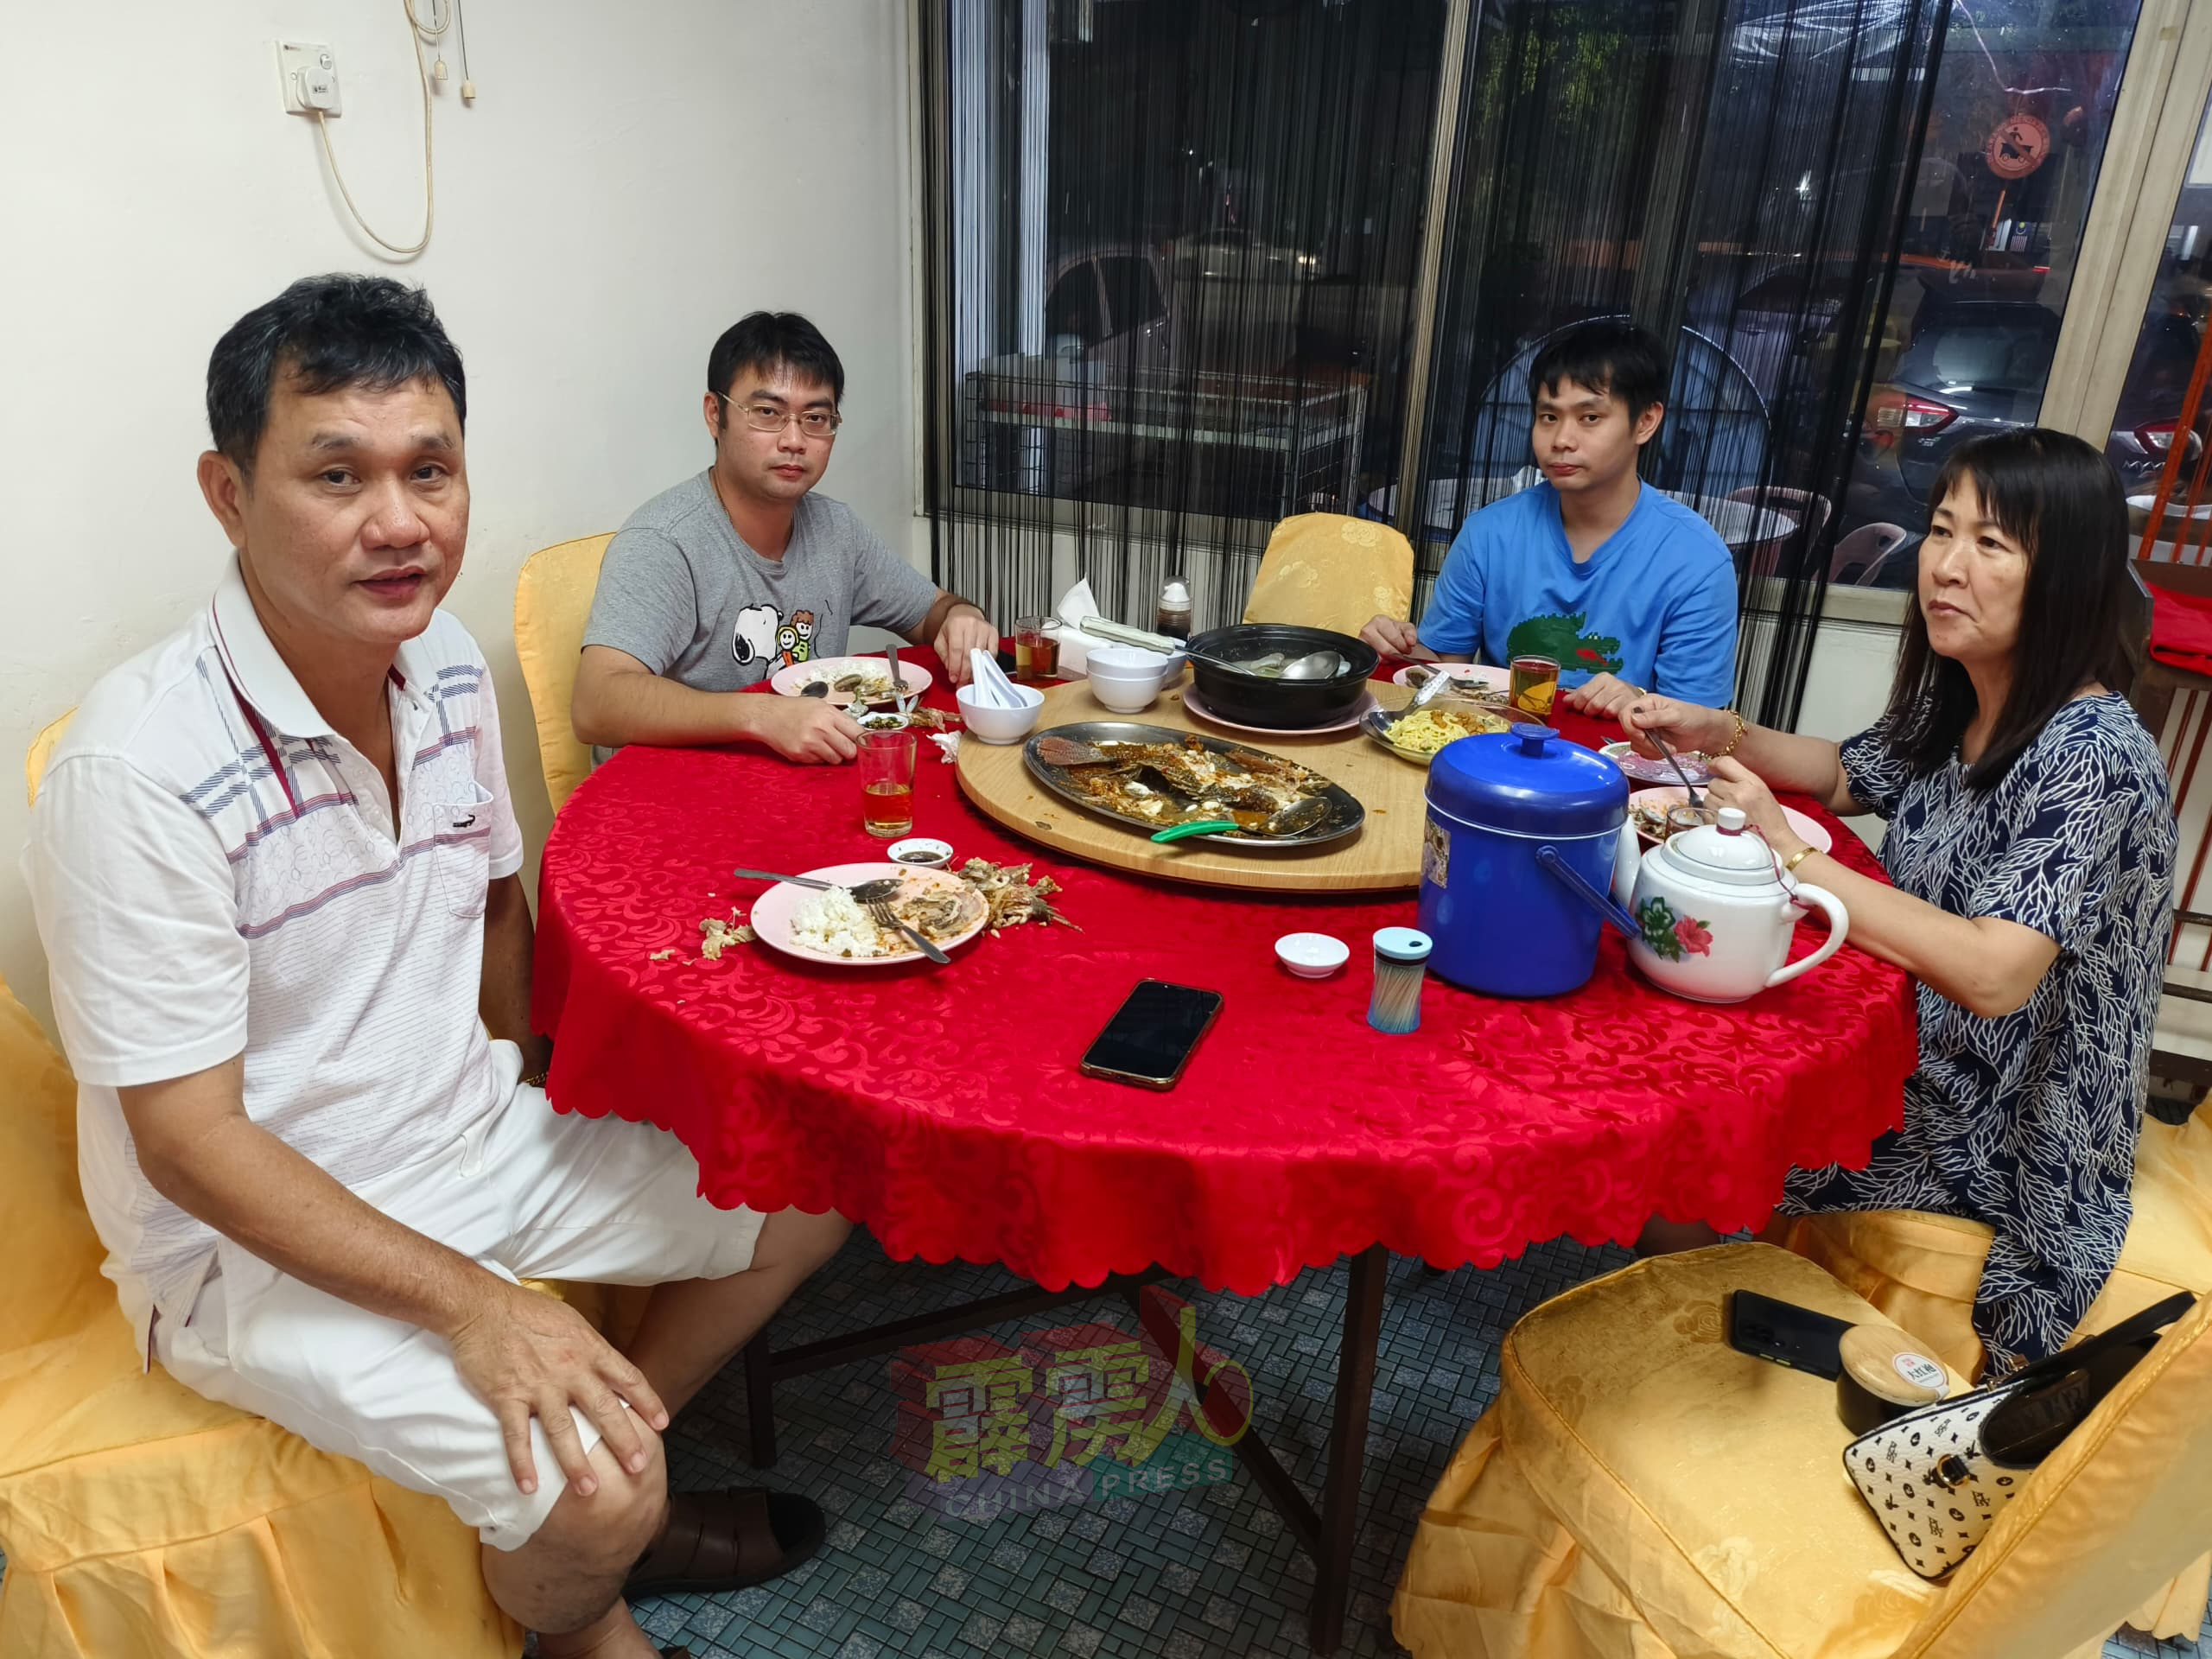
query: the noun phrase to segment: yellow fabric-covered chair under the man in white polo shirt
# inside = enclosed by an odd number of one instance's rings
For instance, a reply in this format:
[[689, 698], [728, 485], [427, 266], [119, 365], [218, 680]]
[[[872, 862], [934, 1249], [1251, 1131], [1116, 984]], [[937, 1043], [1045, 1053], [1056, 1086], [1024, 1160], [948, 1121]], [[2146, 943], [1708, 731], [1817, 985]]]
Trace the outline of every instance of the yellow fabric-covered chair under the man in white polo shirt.
[[142, 1367], [77, 1192], [75, 1084], [4, 984], [0, 1097], [0, 1652], [522, 1652], [440, 1500]]

